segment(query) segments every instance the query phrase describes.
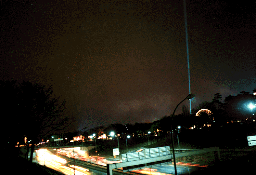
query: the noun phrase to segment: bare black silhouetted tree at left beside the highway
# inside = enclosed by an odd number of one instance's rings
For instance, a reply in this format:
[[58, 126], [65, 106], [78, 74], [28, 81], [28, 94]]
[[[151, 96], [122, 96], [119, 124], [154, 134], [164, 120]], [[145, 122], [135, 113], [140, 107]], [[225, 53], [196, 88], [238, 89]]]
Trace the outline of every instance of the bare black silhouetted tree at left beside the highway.
[[[18, 137], [23, 138], [25, 135], [31, 140], [32, 162], [35, 144], [50, 132], [66, 128], [68, 118], [63, 116], [66, 101], [61, 100], [61, 96], [52, 97], [52, 86], [47, 88], [30, 82], [4, 84], [5, 87], [12, 86], [12, 89], [8, 90], [11, 97], [8, 105], [14, 112], [9, 114], [8, 123], [14, 124]], [[8, 99], [8, 96], [5, 96], [5, 99]]]

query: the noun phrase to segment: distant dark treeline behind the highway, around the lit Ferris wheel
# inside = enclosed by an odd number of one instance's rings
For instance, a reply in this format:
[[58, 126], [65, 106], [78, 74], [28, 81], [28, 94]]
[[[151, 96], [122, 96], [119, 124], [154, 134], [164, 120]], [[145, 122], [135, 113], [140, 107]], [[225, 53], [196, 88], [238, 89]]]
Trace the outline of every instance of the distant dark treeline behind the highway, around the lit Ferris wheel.
[[[253, 90], [256, 93], [256, 89]], [[190, 115], [189, 108], [182, 106], [182, 114], [176, 115], [173, 120], [173, 127], [176, 129], [181, 126], [182, 129], [200, 129], [204, 127], [221, 127], [227, 123], [240, 122], [243, 124], [255, 124], [256, 119], [256, 95], [249, 92], [240, 92], [236, 96], [229, 95], [222, 102], [220, 93], [214, 94], [211, 102], [202, 102], [196, 108], [192, 109]], [[153, 123], [128, 123], [126, 125], [115, 123], [107, 127], [97, 126], [93, 129], [84, 132], [84, 136], [92, 135], [93, 133], [101, 136], [102, 134], [109, 135], [111, 131], [125, 137], [127, 134], [134, 134], [135, 137], [142, 136], [148, 131], [151, 133], [162, 134], [171, 130], [171, 116], [164, 116], [160, 120]], [[158, 132], [157, 132], [158, 131]]]

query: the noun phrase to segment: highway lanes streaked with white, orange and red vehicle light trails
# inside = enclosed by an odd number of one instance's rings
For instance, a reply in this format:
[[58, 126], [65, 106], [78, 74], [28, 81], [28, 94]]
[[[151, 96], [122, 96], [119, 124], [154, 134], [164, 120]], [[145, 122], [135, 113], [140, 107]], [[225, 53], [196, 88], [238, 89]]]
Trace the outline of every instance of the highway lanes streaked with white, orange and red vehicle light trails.
[[[45, 165], [53, 170], [59, 171], [66, 175], [74, 175], [74, 160], [72, 159], [74, 154], [73, 151], [58, 151], [58, 156], [47, 149], [40, 149], [37, 152], [37, 160], [39, 164]], [[106, 170], [103, 172], [95, 169], [87, 168], [84, 161], [87, 164], [92, 163], [94, 165], [106, 166], [108, 163], [118, 163], [120, 161], [107, 160], [104, 157], [93, 156], [88, 158], [86, 155], [75, 152], [75, 174], [76, 175], [106, 175]], [[84, 163], [83, 163], [84, 162]], [[207, 165], [198, 165], [192, 163], [181, 163], [177, 162], [177, 172], [179, 175], [190, 175], [193, 172], [204, 170]], [[100, 169], [99, 169], [100, 170]], [[148, 175], [174, 175], [174, 164], [169, 165], [157, 165], [152, 168], [145, 168], [141, 170], [133, 170], [131, 173], [136, 174], [148, 174]]]

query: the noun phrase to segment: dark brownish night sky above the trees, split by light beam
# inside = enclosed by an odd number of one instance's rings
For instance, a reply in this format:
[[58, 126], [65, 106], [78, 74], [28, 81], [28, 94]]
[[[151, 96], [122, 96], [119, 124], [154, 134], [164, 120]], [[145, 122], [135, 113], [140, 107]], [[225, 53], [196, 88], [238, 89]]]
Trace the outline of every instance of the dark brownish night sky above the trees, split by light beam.
[[[192, 108], [256, 87], [255, 9], [187, 1]], [[0, 78], [52, 84], [71, 131], [169, 116], [189, 94], [183, 1], [4, 1]]]

